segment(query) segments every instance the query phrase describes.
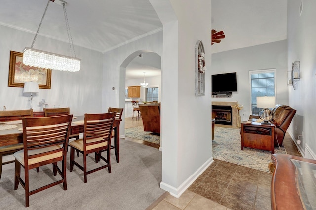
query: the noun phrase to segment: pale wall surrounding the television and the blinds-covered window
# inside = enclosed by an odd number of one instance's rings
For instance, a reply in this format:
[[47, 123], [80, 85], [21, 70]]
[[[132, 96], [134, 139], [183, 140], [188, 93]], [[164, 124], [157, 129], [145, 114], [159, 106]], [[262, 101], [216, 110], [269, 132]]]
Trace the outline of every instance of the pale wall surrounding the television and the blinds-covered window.
[[212, 54], [211, 74], [237, 72], [237, 92], [232, 98], [212, 98], [212, 101], [238, 101], [243, 105], [241, 120], [251, 114], [249, 70], [276, 68], [276, 103], [288, 105], [287, 41], [245, 47]]

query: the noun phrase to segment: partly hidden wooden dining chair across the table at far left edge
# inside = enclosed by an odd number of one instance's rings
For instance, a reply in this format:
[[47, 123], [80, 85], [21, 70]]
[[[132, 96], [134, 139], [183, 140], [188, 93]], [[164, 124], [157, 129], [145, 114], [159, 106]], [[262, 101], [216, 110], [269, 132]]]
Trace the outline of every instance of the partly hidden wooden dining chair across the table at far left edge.
[[[0, 111], [1, 122], [21, 120], [23, 117], [33, 117], [33, 109]], [[23, 149], [23, 143], [8, 146], [0, 146], [0, 180], [2, 175], [2, 165], [14, 162], [14, 160], [10, 160], [3, 163], [3, 156], [14, 154], [14, 152], [17, 152], [21, 149]]]

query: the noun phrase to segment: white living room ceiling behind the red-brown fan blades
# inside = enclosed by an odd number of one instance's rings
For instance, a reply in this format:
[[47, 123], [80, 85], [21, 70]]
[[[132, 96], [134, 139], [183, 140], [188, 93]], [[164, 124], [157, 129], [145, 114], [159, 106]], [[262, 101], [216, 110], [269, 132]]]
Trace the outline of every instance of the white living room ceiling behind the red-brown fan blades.
[[212, 29], [225, 34], [212, 53], [285, 40], [287, 0], [212, 0]]

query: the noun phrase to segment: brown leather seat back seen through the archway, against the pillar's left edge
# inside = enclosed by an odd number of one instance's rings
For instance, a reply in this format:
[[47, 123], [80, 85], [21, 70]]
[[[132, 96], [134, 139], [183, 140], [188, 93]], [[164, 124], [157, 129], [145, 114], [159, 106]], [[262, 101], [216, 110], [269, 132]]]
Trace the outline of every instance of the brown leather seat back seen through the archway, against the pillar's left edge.
[[160, 102], [139, 105], [144, 131], [160, 134]]

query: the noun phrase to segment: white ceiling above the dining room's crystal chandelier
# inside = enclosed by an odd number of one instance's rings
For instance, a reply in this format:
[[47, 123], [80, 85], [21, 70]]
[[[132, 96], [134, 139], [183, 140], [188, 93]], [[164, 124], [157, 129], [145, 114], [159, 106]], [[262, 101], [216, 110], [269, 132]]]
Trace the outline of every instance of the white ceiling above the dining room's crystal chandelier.
[[[162, 27], [148, 0], [65, 1], [74, 44], [100, 52], [111, 50], [135, 37], [154, 33]], [[47, 2], [1, 0], [0, 24], [35, 34]], [[61, 5], [50, 2], [39, 34], [68, 43]]]

